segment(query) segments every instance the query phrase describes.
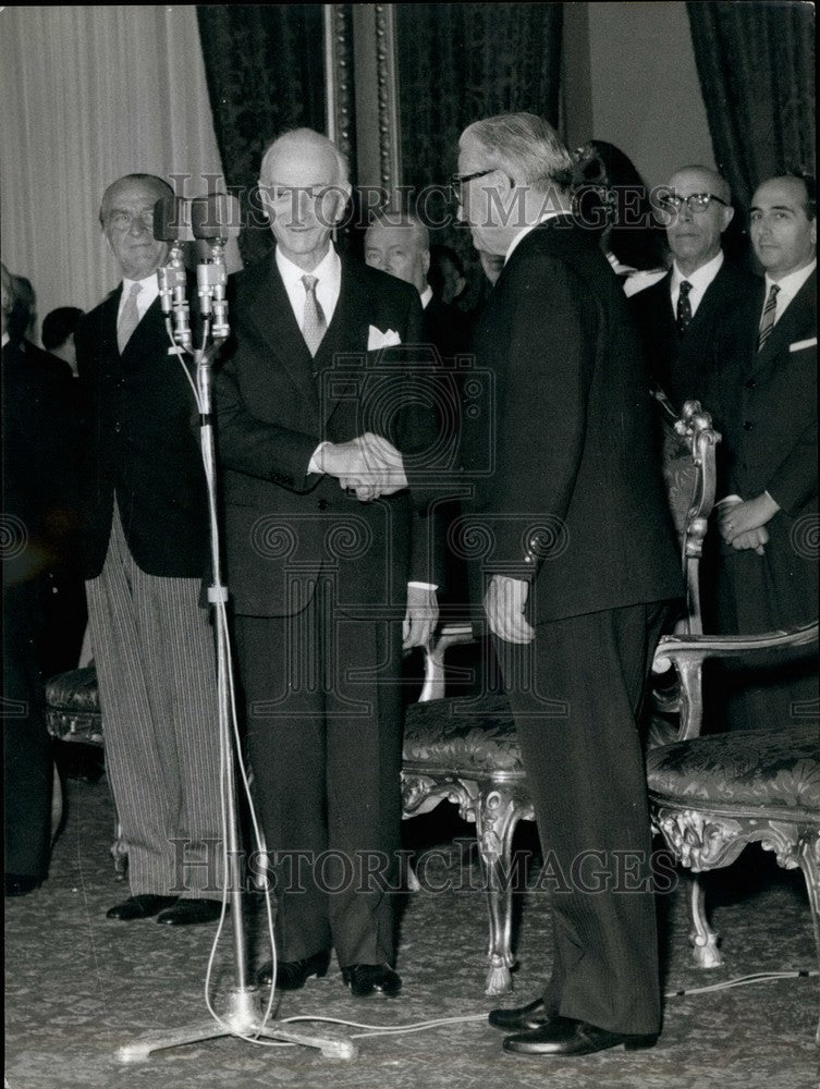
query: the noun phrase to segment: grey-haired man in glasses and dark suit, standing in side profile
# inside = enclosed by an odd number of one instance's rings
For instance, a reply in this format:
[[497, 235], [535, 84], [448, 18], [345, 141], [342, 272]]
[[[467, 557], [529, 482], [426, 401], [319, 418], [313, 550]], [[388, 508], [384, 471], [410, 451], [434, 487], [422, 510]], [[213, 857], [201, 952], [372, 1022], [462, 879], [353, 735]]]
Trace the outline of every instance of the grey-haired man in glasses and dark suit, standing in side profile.
[[506, 1050], [531, 1055], [659, 1031], [636, 715], [664, 602], [681, 590], [640, 348], [617, 278], [573, 221], [571, 170], [546, 122], [510, 114], [462, 134], [455, 179], [474, 244], [505, 258], [475, 339], [494, 427], [464, 461], [480, 466], [490, 442], [473, 514], [492, 541], [485, 611], [555, 862], [551, 980], [490, 1015], [512, 1032]]

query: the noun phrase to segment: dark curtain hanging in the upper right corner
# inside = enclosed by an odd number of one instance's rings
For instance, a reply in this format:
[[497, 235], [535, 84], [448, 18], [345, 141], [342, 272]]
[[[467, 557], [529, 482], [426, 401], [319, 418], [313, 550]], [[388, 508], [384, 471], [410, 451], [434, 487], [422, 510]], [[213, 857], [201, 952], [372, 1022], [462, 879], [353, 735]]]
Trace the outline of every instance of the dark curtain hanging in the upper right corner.
[[766, 178], [815, 163], [815, 5], [686, 4], [718, 169], [748, 207]]

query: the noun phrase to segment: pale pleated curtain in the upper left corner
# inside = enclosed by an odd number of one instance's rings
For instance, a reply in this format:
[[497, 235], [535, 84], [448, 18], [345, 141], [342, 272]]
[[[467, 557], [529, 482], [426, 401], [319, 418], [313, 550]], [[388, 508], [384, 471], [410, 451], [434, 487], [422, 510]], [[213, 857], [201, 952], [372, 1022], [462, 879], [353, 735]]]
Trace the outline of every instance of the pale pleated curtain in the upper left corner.
[[10, 7], [0, 15], [3, 261], [40, 318], [119, 272], [97, 219], [132, 171], [221, 174], [193, 7]]

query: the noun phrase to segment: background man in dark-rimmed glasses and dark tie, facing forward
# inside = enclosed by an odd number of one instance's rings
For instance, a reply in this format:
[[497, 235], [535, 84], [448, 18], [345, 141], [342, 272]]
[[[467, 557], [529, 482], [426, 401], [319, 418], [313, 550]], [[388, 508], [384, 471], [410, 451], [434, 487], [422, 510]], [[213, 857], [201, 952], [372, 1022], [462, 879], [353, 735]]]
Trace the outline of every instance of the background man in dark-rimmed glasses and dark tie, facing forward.
[[654, 382], [680, 408], [703, 400], [721, 325], [759, 279], [732, 265], [721, 248], [734, 218], [726, 181], [707, 167], [683, 167], [654, 194], [666, 227], [672, 268], [629, 299]]

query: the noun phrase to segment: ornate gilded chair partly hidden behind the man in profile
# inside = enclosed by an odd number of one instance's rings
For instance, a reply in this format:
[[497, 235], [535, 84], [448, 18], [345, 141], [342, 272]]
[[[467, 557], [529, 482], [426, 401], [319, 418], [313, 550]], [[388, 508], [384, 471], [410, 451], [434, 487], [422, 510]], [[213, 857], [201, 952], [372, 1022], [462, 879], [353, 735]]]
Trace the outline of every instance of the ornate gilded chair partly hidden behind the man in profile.
[[[662, 395], [664, 474], [673, 518], [680, 527], [687, 586], [687, 611], [677, 627], [702, 632], [698, 566], [709, 514], [714, 502], [715, 446], [720, 436], [697, 402], [676, 418]], [[503, 696], [444, 698], [444, 656], [456, 644], [473, 640], [469, 625], [445, 626], [429, 649], [426, 684], [417, 703], [407, 708], [404, 732], [404, 815], [428, 812], [443, 800], [476, 824], [479, 858], [489, 913], [487, 994], [512, 988], [515, 957], [512, 939], [512, 842], [521, 820], [533, 820], [526, 774], [512, 714]], [[675, 735], [671, 715], [680, 708], [677, 685], [657, 697], [663, 712], [652, 723], [650, 744]], [[664, 717], [665, 715], [665, 717]]]

